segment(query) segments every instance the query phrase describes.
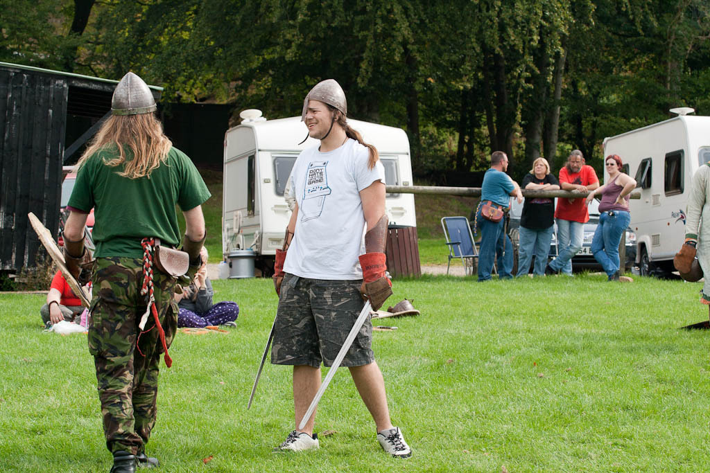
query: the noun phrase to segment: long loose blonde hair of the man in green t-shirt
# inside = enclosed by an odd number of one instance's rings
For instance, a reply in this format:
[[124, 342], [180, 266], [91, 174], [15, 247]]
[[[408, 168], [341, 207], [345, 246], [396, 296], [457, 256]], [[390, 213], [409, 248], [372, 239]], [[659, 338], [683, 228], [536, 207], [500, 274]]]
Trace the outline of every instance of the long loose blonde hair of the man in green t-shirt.
[[[129, 179], [151, 177], [153, 169], [168, 158], [173, 142], [163, 133], [163, 125], [153, 113], [138, 115], [111, 115], [99, 128], [86, 151], [77, 162], [77, 169], [82, 167], [89, 156], [100, 150], [119, 152], [106, 165], [116, 167], [124, 164], [120, 176]], [[126, 160], [126, 148], [131, 150], [133, 158]]]

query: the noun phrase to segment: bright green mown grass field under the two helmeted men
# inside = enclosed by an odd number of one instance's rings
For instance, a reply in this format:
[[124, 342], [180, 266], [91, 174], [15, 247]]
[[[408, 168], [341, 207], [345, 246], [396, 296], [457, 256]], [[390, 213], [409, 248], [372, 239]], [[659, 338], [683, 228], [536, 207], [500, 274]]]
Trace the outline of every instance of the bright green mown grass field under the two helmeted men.
[[[276, 308], [268, 279], [214, 282], [239, 302], [229, 333], [184, 335], [163, 366], [148, 452], [165, 472], [710, 470], [708, 333], [700, 284], [579, 275], [479, 284], [395, 280], [418, 318], [374, 333], [395, 425], [414, 456], [381, 452], [346, 370], [320, 404], [321, 449], [274, 455], [293, 428], [290, 369], [253, 376]], [[43, 333], [44, 296], [0, 294], [0, 471], [105, 472], [85, 335]], [[208, 464], [202, 459], [213, 456]]]

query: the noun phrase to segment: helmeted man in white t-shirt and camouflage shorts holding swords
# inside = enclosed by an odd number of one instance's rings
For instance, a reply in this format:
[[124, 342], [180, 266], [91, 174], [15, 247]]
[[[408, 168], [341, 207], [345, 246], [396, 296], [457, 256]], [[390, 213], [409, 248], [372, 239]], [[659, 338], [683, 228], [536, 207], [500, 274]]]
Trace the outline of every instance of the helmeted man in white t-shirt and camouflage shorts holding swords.
[[[333, 79], [318, 83], [307, 94], [301, 119], [320, 145], [303, 150], [293, 165], [290, 185], [296, 205], [284, 250], [276, 255], [279, 303], [271, 362], [293, 365], [296, 423], [320, 387], [321, 362], [332, 365], [363, 308], [363, 297], [377, 310], [392, 294], [384, 255], [384, 168], [376, 148], [363, 142], [345, 116], [345, 94]], [[349, 368], [375, 421], [380, 445], [391, 455], [406, 458], [411, 450], [391, 423], [371, 343], [368, 318], [342, 366]], [[314, 424], [315, 412], [303, 430], [293, 430], [274, 451], [319, 447]]]

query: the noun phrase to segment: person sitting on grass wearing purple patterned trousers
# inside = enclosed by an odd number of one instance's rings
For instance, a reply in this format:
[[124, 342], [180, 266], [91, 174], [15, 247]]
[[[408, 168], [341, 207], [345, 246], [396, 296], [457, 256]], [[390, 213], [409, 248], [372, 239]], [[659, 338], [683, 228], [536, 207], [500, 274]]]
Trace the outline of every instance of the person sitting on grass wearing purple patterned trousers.
[[212, 282], [207, 277], [207, 248], [202, 247], [202, 266], [190, 286], [175, 294], [178, 303], [178, 327], [206, 327], [207, 325], [236, 325], [239, 306], [236, 302], [222, 301], [212, 305]]

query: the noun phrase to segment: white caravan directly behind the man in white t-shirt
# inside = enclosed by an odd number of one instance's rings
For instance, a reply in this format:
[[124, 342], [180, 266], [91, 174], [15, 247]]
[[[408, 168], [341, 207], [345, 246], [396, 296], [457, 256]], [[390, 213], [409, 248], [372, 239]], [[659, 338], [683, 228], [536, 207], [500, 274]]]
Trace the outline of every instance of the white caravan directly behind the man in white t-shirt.
[[[266, 120], [261, 111], [240, 113], [241, 124], [224, 135], [224, 194], [222, 201], [222, 250], [252, 249], [256, 267], [271, 274], [275, 250], [291, 211], [283, 197], [286, 181], [298, 153], [318, 141], [308, 138], [300, 117]], [[365, 143], [375, 145], [385, 167], [386, 184], [411, 186], [409, 140], [404, 130], [364, 121], [348, 120]], [[413, 194], [387, 194], [390, 225], [416, 226]]]

